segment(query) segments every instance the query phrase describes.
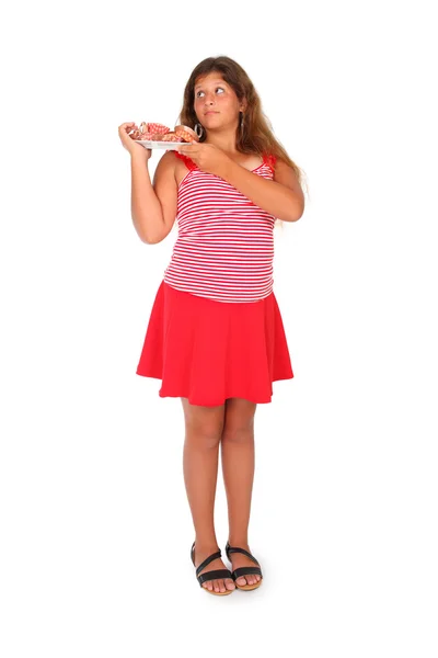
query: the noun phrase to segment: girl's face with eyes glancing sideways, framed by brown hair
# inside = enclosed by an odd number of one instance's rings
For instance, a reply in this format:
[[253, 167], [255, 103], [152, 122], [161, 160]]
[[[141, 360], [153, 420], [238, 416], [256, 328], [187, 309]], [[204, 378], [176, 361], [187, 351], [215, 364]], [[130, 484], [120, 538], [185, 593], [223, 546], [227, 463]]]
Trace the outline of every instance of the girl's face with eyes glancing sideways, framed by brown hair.
[[234, 90], [220, 73], [212, 71], [195, 82], [194, 109], [199, 123], [206, 128], [238, 124], [239, 112], [244, 111]]

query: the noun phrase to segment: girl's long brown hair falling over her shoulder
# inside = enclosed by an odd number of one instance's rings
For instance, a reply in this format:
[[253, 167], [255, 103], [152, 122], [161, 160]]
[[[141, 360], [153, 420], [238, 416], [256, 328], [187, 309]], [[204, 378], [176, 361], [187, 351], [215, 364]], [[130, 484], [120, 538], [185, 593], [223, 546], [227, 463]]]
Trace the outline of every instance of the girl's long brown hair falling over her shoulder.
[[[285, 147], [275, 137], [272, 124], [262, 110], [262, 102], [246, 71], [233, 59], [221, 55], [203, 59], [192, 71], [184, 89], [183, 107], [178, 122], [191, 128], [199, 123], [194, 110], [195, 84], [200, 76], [218, 72], [234, 90], [239, 101], [246, 99], [246, 111], [243, 117], [243, 128], [238, 126], [235, 147], [241, 154], [257, 156], [274, 156], [292, 168], [300, 185], [303, 182], [303, 171], [290, 159]], [[199, 141], [205, 141], [206, 131]], [[277, 222], [278, 219], [276, 219]], [[283, 223], [281, 223], [283, 224]]]

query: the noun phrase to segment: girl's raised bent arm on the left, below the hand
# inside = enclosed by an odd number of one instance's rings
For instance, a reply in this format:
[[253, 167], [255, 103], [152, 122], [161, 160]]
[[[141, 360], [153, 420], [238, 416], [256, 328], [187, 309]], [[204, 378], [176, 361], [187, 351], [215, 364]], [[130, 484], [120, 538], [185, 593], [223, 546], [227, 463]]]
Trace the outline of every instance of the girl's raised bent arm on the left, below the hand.
[[149, 177], [148, 159], [143, 154], [131, 152], [130, 164], [134, 226], [142, 242], [157, 245], [170, 234], [176, 218], [175, 156], [168, 151], [161, 157], [153, 184]]

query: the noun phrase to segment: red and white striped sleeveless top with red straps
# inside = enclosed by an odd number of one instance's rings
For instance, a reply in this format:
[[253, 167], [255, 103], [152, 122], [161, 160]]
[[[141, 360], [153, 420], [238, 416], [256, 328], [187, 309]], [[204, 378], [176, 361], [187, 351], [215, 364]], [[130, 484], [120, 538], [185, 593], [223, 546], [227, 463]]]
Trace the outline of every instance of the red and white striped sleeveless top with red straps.
[[[188, 172], [177, 193], [178, 235], [164, 281], [217, 302], [258, 302], [273, 291], [275, 217], [175, 151]], [[275, 157], [253, 173], [273, 179]]]

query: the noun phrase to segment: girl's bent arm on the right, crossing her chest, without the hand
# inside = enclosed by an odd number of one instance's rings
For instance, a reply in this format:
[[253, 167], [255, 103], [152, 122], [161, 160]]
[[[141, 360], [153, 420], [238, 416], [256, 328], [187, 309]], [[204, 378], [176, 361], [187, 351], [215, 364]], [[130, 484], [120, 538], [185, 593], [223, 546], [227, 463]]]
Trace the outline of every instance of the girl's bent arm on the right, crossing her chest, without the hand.
[[230, 158], [224, 159], [218, 175], [278, 219], [297, 222], [304, 212], [304, 194], [298, 178], [281, 160], [275, 163], [274, 180], [253, 173]]

